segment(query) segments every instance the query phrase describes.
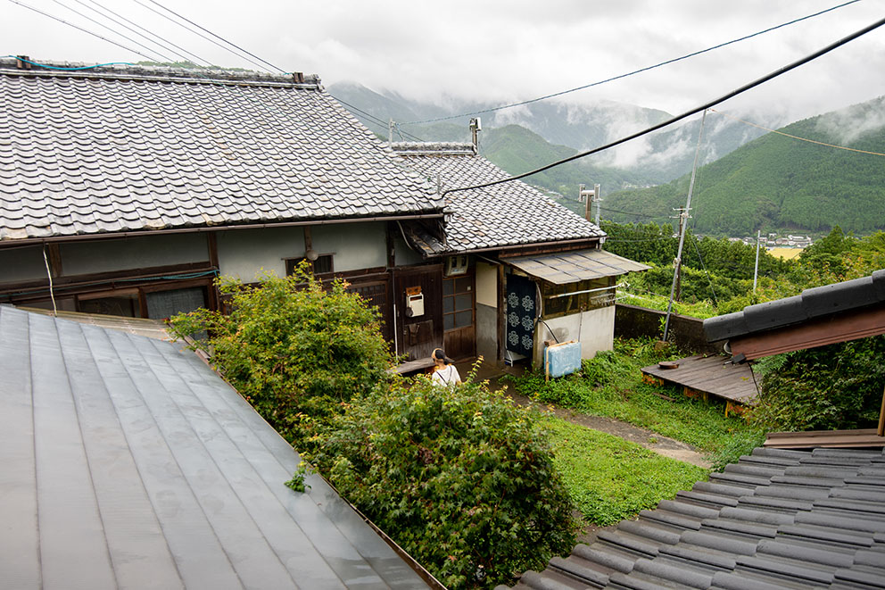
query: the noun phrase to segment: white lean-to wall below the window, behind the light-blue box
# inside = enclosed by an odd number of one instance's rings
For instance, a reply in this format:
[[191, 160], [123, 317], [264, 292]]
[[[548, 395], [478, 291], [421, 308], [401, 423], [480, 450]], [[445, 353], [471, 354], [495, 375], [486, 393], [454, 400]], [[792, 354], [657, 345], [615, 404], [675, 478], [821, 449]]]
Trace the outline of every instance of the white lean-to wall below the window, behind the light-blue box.
[[534, 358], [536, 367], [542, 366], [544, 340], [567, 342], [577, 340], [581, 343], [581, 358], [591, 359], [600, 350], [611, 350], [615, 338], [615, 306], [601, 307], [589, 312], [575, 313], [552, 320], [538, 322], [534, 331]]

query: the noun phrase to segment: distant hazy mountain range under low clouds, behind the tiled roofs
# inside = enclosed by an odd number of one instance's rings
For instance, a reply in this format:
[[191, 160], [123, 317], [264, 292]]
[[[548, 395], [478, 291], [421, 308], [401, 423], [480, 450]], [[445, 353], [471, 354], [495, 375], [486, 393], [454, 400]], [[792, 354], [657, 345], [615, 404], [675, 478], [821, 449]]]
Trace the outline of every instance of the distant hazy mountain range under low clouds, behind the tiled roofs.
[[[458, 116], [458, 113], [481, 112], [496, 106], [453, 100], [449, 100], [444, 106], [426, 104], [394, 93], [379, 94], [357, 84], [333, 84], [328, 90], [346, 103], [345, 106], [350, 104], [368, 113], [370, 117], [353, 111], [353, 114], [379, 137], [387, 138], [388, 120], [393, 119], [400, 123], [400, 127], [394, 132], [394, 140], [414, 140], [418, 137], [429, 141], [468, 141], [470, 134], [467, 125], [470, 117]], [[499, 111], [482, 112], [479, 116], [483, 120], [486, 134], [492, 129], [516, 125], [532, 131], [550, 145], [571, 147], [575, 152], [604, 145], [670, 117], [663, 111], [611, 101], [600, 101], [591, 105], [539, 101]], [[424, 120], [434, 121], [422, 124], [410, 123]], [[785, 121], [764, 122], [768, 127], [778, 127]], [[584, 178], [582, 182], [600, 182], [602, 192], [606, 194], [625, 187], [658, 185], [677, 179], [691, 170], [698, 130], [699, 120], [689, 120], [595, 155], [591, 158], [592, 170], [609, 170], [603, 176], [624, 179], [624, 181], [622, 184], [611, 185], [608, 182], [601, 182], [600, 179]], [[729, 154], [763, 133], [764, 131], [760, 129], [736, 120], [711, 114], [707, 117], [705, 141], [712, 147], [707, 150], [705, 162], [712, 162], [724, 154]], [[515, 145], [514, 150], [518, 149], [519, 146]], [[524, 154], [523, 157], [534, 159], [531, 154]], [[550, 162], [553, 160], [538, 163], [541, 165]], [[502, 168], [509, 172], [516, 171], [510, 170], [506, 165]], [[561, 178], [558, 178], [561, 174], [559, 169], [550, 170], [545, 174], [546, 178], [550, 179], [551, 186], [565, 187], [574, 184], [573, 174], [562, 174]], [[576, 196], [577, 185], [569, 191]]]

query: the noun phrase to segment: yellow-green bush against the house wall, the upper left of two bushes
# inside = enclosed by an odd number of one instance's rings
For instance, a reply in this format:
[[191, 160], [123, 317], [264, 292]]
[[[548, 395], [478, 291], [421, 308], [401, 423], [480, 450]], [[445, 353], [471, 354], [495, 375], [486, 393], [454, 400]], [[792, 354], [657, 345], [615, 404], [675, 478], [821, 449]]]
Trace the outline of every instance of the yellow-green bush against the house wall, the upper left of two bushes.
[[353, 395], [385, 377], [392, 357], [376, 311], [336, 281], [324, 290], [303, 268], [261, 277], [260, 287], [219, 279], [229, 315], [198, 310], [170, 320], [177, 337], [203, 330], [197, 345], [270, 425], [308, 450], [312, 436]]

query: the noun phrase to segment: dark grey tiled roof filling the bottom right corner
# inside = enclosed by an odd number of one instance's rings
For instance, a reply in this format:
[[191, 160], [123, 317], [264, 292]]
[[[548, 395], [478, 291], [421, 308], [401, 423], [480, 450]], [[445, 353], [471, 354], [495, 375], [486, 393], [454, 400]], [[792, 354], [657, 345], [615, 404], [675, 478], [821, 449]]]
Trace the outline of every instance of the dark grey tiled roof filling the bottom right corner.
[[756, 449], [514, 587], [885, 587], [885, 456]]

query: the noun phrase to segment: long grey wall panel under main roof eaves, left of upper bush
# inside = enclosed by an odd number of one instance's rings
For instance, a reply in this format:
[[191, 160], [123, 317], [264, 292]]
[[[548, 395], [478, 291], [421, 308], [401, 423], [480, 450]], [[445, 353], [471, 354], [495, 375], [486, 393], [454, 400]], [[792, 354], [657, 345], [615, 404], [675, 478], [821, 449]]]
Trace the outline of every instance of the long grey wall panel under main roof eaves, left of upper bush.
[[[59, 253], [65, 277], [209, 261], [205, 233], [70, 242], [59, 245]], [[42, 254], [40, 258], [40, 266], [44, 266]]]

